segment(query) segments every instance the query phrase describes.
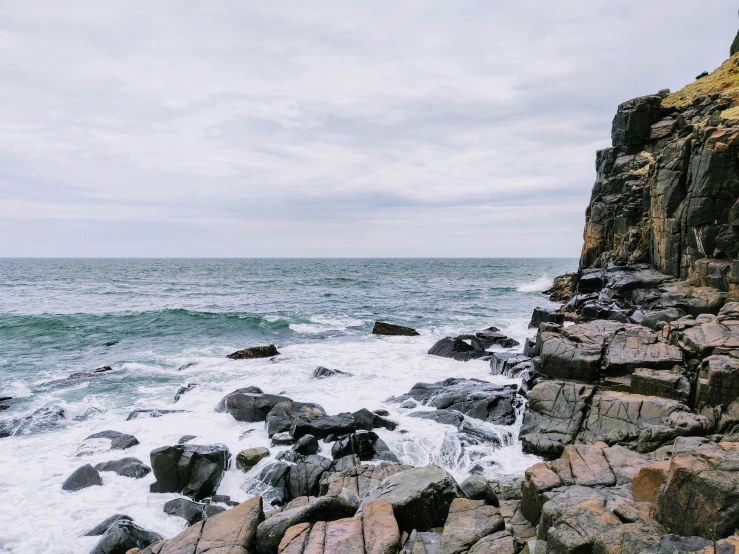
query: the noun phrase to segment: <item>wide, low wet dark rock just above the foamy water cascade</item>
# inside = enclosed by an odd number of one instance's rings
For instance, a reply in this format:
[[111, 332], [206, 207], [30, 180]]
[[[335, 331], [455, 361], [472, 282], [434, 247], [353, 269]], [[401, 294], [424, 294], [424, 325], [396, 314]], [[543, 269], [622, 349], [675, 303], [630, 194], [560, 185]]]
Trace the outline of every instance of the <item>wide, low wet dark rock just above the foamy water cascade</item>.
[[478, 379], [451, 378], [438, 383], [416, 383], [408, 393], [393, 402], [408, 399], [438, 409], [461, 412], [469, 417], [495, 423], [512, 425], [516, 420], [518, 402], [515, 385], [495, 385]]

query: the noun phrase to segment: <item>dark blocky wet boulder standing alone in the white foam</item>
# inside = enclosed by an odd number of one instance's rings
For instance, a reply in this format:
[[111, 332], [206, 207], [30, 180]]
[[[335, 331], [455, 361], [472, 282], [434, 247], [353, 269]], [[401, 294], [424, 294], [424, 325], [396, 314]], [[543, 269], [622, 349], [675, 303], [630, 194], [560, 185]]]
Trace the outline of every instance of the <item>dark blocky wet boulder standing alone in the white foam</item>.
[[151, 492], [179, 492], [200, 500], [216, 492], [231, 455], [223, 445], [163, 446], [151, 451]]

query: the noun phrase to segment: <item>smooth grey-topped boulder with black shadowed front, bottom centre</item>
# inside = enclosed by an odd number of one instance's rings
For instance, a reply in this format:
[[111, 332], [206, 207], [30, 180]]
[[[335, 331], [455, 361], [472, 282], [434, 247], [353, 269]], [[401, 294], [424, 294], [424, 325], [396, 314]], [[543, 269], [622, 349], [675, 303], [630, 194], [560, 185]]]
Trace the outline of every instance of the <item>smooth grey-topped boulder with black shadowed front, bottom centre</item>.
[[452, 501], [463, 495], [446, 471], [426, 466], [387, 477], [362, 505], [385, 499], [392, 504], [401, 531], [426, 531], [443, 525]]

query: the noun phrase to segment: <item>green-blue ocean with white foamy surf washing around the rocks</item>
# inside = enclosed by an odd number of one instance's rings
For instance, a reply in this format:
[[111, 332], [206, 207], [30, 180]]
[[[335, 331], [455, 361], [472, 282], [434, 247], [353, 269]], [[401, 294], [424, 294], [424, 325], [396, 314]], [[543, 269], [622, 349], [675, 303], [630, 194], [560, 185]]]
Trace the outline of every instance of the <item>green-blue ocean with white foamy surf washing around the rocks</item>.
[[[64, 413], [0, 439], [0, 552], [89, 551], [98, 537], [82, 535], [114, 513], [165, 537], [180, 532], [184, 520], [162, 511], [179, 495], [149, 493], [152, 475], [105, 472], [103, 486], [77, 492], [61, 483], [85, 463], [134, 456], [148, 464], [153, 448], [185, 434], [197, 435], [193, 443], [225, 444], [232, 456], [269, 446], [262, 424], [214, 411], [225, 394], [249, 385], [330, 414], [389, 410], [399, 430], [378, 434], [403, 463], [439, 464], [457, 479], [476, 463], [489, 479], [520, 476], [537, 461], [521, 451], [520, 416], [495, 429], [502, 448], [471, 451], [452, 427], [409, 418], [384, 400], [419, 381], [511, 382], [492, 376], [486, 361], [427, 351], [445, 336], [491, 325], [523, 343], [534, 335], [527, 328], [533, 308], [551, 305], [541, 291], [576, 267], [576, 259], [0, 259], [0, 397], [12, 397], [0, 423], [44, 408]], [[420, 336], [374, 336], [377, 320]], [[281, 355], [226, 359], [262, 344]], [[66, 379], [101, 366], [112, 371]], [[318, 366], [353, 377], [312, 379]], [[197, 386], [175, 403], [190, 383]], [[184, 411], [127, 421], [136, 409]], [[140, 444], [77, 455], [85, 437], [107, 429]], [[232, 464], [219, 494], [247, 499], [252, 475]]]

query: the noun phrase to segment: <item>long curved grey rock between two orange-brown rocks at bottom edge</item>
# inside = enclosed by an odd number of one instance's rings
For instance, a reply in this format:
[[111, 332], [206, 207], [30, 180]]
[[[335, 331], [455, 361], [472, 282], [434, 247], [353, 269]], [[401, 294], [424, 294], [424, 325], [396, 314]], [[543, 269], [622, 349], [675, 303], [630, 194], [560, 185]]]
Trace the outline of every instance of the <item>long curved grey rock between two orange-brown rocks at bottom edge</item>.
[[[310, 500], [304, 506], [283, 510], [264, 520], [257, 527], [256, 552], [258, 554], [276, 554], [285, 533], [294, 525], [330, 522], [352, 517], [358, 507], [359, 499], [355, 495], [347, 493], [321, 496]], [[318, 552], [320, 553], [321, 550], [318, 550]]]

